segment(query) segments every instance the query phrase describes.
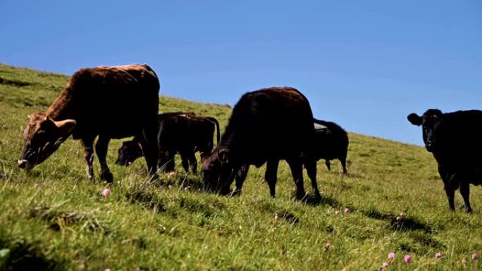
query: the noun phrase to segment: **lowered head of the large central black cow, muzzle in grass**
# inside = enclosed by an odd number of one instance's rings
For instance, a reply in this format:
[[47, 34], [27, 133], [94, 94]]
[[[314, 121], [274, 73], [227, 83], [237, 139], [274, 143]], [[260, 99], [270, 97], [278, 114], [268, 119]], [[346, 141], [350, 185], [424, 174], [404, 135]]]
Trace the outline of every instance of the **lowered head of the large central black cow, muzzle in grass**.
[[202, 163], [202, 179], [206, 191], [229, 194], [232, 175], [233, 165], [230, 163], [229, 149], [215, 149]]

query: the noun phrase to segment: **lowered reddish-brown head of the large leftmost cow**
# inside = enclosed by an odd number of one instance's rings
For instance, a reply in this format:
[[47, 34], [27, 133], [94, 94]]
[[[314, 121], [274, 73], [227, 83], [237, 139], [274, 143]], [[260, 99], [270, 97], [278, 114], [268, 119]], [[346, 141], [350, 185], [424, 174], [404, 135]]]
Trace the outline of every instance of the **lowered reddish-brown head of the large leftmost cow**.
[[54, 121], [44, 113], [30, 115], [23, 132], [25, 145], [18, 166], [28, 171], [42, 163], [70, 136], [74, 127], [75, 120]]

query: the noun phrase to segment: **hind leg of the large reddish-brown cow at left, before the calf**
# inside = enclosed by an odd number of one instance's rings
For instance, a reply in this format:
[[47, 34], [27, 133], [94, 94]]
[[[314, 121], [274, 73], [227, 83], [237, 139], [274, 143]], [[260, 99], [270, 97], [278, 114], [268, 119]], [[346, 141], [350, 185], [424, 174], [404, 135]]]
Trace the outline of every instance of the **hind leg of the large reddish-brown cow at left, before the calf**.
[[150, 121], [147, 121], [146, 127], [141, 132], [142, 140], [140, 145], [142, 153], [147, 163], [147, 171], [152, 175], [152, 179], [157, 179], [157, 158], [159, 156], [159, 142], [157, 140], [158, 120], [154, 115]]

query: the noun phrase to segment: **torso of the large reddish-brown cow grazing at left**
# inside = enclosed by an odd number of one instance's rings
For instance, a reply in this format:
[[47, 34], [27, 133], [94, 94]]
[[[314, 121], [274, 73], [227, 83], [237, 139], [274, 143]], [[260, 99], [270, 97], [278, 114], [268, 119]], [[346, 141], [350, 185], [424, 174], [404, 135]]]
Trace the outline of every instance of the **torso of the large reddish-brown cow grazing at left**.
[[[76, 72], [64, 90], [82, 134], [128, 137], [159, 110], [159, 79], [148, 65], [101, 66]], [[53, 105], [54, 106], [54, 105]]]

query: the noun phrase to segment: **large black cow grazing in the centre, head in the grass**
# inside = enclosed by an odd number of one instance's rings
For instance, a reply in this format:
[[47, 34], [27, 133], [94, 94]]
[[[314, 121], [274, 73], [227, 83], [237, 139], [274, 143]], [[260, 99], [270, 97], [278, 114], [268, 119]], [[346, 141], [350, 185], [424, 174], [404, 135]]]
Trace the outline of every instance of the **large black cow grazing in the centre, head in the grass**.
[[[311, 148], [313, 121], [309, 102], [297, 89], [271, 87], [243, 95], [233, 109], [221, 141], [202, 164], [204, 188], [229, 194], [235, 176], [245, 174], [247, 166], [267, 163], [265, 179], [274, 197], [278, 161], [283, 159], [290, 165], [297, 197], [305, 196], [303, 165], [314, 196], [319, 196], [316, 160]], [[242, 188], [238, 179], [244, 177], [237, 178], [234, 191]]]

